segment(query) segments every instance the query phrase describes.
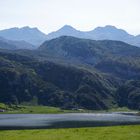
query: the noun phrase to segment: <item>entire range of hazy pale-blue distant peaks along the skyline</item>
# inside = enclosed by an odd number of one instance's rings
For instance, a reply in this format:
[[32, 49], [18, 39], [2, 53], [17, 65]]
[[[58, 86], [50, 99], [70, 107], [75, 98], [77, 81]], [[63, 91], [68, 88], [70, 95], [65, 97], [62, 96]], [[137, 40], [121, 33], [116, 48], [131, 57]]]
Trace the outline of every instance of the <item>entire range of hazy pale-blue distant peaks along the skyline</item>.
[[118, 40], [134, 46], [140, 46], [140, 35], [130, 35], [125, 30], [118, 29], [110, 25], [105, 27], [97, 27], [91, 31], [79, 31], [69, 25], [65, 25], [61, 29], [49, 33], [48, 35], [42, 33], [37, 28], [30, 28], [28, 26], [0, 31], [0, 36], [5, 39], [14, 41], [26, 41], [37, 47], [46, 40], [64, 35], [92, 40]]

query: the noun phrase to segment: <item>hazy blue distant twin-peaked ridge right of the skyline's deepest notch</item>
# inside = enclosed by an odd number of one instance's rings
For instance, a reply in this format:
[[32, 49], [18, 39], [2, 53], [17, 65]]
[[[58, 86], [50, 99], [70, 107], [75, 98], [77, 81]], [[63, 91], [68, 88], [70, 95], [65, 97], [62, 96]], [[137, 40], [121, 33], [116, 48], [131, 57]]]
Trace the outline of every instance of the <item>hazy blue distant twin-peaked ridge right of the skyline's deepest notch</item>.
[[105, 27], [97, 27], [92, 31], [78, 31], [69, 25], [65, 25], [58, 31], [49, 33], [47, 39], [53, 39], [60, 36], [74, 36], [77, 38], [85, 38], [92, 40], [118, 40], [135, 46], [140, 46], [139, 36], [128, 34], [125, 30], [118, 29], [115, 26], [107, 25]]

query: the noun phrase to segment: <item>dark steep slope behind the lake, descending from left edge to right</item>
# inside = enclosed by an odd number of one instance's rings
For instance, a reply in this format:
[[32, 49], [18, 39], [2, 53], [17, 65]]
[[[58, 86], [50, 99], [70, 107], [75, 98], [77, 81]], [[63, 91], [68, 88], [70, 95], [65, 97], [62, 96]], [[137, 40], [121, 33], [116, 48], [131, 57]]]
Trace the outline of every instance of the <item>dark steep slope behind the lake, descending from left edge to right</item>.
[[0, 102], [107, 109], [118, 81], [101, 73], [0, 53]]

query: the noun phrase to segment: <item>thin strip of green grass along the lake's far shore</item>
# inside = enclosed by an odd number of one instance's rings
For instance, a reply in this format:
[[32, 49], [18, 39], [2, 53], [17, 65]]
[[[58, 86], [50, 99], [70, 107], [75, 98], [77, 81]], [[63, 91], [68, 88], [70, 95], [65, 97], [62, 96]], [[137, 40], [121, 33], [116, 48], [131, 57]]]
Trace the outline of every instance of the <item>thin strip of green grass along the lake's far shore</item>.
[[59, 114], [59, 113], [104, 113], [104, 112], [131, 112], [136, 110], [130, 110], [126, 107], [112, 108], [109, 110], [63, 110], [58, 107], [49, 107], [41, 105], [6, 105], [0, 103], [0, 109], [5, 112], [0, 114]]

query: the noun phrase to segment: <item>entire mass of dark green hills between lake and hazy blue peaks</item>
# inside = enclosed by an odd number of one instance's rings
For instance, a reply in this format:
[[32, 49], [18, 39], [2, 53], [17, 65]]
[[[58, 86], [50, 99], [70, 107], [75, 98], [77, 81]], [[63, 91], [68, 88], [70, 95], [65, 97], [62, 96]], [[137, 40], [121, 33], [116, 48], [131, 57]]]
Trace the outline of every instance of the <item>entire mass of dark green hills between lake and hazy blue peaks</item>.
[[140, 109], [140, 48], [63, 36], [35, 51], [1, 51], [0, 102]]

